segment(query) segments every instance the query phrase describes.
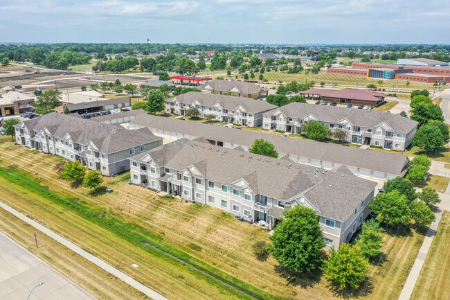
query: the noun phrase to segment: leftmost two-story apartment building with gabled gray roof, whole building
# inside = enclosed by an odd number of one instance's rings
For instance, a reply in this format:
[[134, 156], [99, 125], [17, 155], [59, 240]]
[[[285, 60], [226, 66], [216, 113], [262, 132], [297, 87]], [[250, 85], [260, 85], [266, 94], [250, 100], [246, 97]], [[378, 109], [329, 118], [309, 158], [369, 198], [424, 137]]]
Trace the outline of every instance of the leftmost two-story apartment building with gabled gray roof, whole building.
[[80, 118], [51, 113], [15, 125], [19, 145], [82, 161], [91, 170], [111, 176], [129, 170], [128, 157], [163, 144], [147, 128], [126, 130]]

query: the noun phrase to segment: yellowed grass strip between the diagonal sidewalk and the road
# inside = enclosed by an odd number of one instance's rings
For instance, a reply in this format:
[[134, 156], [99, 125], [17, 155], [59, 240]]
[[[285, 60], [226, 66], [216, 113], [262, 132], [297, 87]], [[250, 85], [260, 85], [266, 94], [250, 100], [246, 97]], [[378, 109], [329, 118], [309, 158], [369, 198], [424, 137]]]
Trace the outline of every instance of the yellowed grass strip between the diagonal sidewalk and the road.
[[[97, 299], [148, 299], [131, 285], [112, 276], [34, 227], [0, 209], [0, 231], [58, 270]], [[39, 248], [33, 234], [37, 232]]]

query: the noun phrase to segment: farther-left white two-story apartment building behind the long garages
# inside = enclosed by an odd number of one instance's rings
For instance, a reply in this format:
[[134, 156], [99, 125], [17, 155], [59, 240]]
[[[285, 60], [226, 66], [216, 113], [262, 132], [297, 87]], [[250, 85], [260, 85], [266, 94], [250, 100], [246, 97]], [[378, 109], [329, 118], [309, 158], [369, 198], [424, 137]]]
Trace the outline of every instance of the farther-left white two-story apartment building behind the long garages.
[[262, 125], [262, 114], [276, 105], [266, 100], [244, 98], [239, 96], [224, 96], [190, 91], [171, 98], [165, 102], [165, 112], [185, 116], [190, 108], [197, 108], [201, 118], [214, 114], [216, 121], [239, 124], [248, 127]]

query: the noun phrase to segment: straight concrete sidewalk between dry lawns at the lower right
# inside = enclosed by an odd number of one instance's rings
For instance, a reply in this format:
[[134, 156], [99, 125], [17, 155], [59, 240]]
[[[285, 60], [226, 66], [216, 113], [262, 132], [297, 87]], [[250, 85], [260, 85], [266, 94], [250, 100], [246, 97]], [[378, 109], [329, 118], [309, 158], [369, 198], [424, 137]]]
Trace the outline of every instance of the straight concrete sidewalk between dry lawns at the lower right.
[[399, 300], [409, 300], [411, 298], [411, 294], [413, 294], [413, 290], [415, 287], [415, 283], [419, 278], [420, 270], [422, 270], [422, 266], [424, 265], [426, 254], [431, 247], [431, 242], [433, 242], [433, 238], [436, 234], [436, 230], [438, 230], [438, 225], [440, 219], [442, 218], [442, 213], [444, 211], [442, 209], [438, 209], [436, 211], [436, 220], [431, 223], [428, 232], [426, 232], [426, 236], [424, 238], [424, 242], [422, 243], [422, 247], [420, 247], [419, 254], [417, 254], [417, 258], [415, 258], [415, 262], [411, 271], [409, 272], [408, 278], [406, 279], [406, 283], [403, 287], [402, 293], [400, 294]]

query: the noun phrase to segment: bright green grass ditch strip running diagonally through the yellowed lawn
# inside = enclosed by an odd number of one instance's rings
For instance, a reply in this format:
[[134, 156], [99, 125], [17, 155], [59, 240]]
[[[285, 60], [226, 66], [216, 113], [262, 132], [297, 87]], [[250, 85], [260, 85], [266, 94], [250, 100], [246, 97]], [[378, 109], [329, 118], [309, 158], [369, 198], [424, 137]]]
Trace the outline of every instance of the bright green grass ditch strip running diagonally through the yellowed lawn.
[[192, 275], [197, 277], [197, 279], [206, 281], [206, 283], [208, 283], [209, 285], [215, 285], [219, 290], [221, 290], [221, 292], [225, 292], [226, 294], [228, 294], [229, 297], [251, 299], [251, 297], [242, 294], [242, 292], [238, 292], [237, 290], [228, 287], [223, 283], [220, 283], [210, 276], [206, 276], [205, 274], [193, 269], [192, 267], [183, 265], [179, 261], [170, 258], [170, 256], [167, 256], [163, 252], [149, 246], [154, 246], [158, 249], [162, 249], [164, 252], [168, 252], [171, 255], [176, 256], [182, 261], [185, 261], [192, 265], [196, 265], [197, 267], [201, 267], [201, 269], [205, 270], [206, 272], [214, 274], [218, 278], [228, 281], [233, 285], [239, 286], [240, 288], [242, 288], [242, 290], [252, 292], [252, 294], [256, 294], [256, 296], [260, 297], [261, 299], [276, 299], [276, 297], [271, 297], [271, 295], [269, 294], [260, 292], [256, 289], [253, 289], [251, 286], [246, 285], [245, 283], [237, 281], [232, 276], [228, 276], [228, 274], [222, 274], [222, 272], [216, 270], [214, 267], [210, 267], [202, 263], [201, 261], [197, 261], [195, 258], [190, 257], [188, 254], [185, 254], [178, 249], [174, 249], [173, 247], [165, 245], [161, 238], [152, 236], [149, 232], [145, 231], [134, 223], [124, 222], [123, 220], [120, 220], [120, 218], [118, 218], [116, 215], [111, 215], [109, 211], [107, 211], [107, 209], [92, 208], [78, 202], [72, 197], [64, 197], [63, 195], [58, 195], [45, 186], [39, 184], [36, 179], [32, 179], [26, 174], [20, 173], [17, 170], [8, 170], [6, 168], [0, 167], [0, 177], [3, 177], [3, 179], [8, 179], [8, 181], [12, 184], [20, 186], [22, 189], [30, 191], [30, 193], [38, 195], [39, 197], [42, 197], [46, 200], [50, 200], [58, 206], [63, 206], [65, 209], [77, 213], [85, 220], [88, 220], [93, 224], [100, 225], [100, 227], [111, 231], [111, 233], [113, 233], [114, 235], [123, 238], [123, 240], [127, 240], [137, 247], [145, 248], [147, 252], [149, 252], [153, 256], [162, 258], [165, 261], [171, 261], [172, 265], [177, 265], [178, 268], [187, 270]]

